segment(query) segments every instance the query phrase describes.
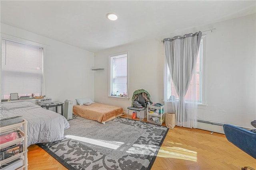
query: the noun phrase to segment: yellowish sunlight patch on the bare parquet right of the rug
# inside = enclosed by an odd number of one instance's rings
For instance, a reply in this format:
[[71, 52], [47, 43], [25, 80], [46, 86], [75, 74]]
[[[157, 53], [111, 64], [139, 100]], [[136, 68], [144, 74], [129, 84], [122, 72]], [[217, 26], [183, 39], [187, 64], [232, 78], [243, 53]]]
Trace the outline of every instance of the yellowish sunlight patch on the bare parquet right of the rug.
[[180, 147], [161, 147], [157, 156], [197, 162], [197, 152]]

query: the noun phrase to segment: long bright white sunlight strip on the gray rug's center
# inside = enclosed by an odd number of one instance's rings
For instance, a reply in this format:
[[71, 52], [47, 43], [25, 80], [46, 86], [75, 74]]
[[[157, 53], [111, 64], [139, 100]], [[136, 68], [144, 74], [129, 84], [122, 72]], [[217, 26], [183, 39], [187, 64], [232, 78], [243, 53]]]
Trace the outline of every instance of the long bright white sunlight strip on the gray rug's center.
[[79, 136], [74, 136], [74, 135], [66, 135], [65, 137], [74, 139], [77, 141], [82, 141], [86, 143], [90, 143], [93, 145], [98, 145], [110, 149], [118, 149], [120, 146], [122, 146], [124, 143], [123, 142], [116, 142], [116, 141], [104, 141], [104, 140], [98, 140], [98, 139], [90, 139], [86, 137], [79, 137]]

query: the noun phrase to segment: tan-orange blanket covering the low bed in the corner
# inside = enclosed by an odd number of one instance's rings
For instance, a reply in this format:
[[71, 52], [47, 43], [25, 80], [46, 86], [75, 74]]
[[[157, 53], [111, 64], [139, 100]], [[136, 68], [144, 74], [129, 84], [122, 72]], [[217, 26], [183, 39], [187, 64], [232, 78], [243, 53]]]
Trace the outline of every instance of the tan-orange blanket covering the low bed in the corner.
[[86, 119], [96, 120], [102, 123], [111, 117], [124, 113], [124, 109], [118, 106], [93, 103], [90, 106], [75, 105], [73, 106], [73, 113]]

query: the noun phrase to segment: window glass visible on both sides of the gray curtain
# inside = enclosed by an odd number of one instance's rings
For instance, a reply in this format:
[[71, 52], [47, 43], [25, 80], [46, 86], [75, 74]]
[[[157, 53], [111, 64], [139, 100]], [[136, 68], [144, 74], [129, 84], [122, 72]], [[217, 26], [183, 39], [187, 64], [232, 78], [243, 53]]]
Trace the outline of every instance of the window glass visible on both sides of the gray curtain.
[[[205, 101], [205, 50], [206, 50], [206, 37], [202, 37], [201, 42], [200, 42], [200, 48], [198, 51], [198, 57], [197, 57], [197, 61], [196, 61], [196, 72], [194, 74], [194, 76], [196, 76], [196, 82], [191, 81], [190, 83], [190, 87], [188, 88], [188, 92], [186, 94], [186, 96], [184, 97], [184, 99], [188, 99], [188, 94], [189, 90], [191, 89], [192, 86], [196, 86], [197, 88], [197, 96], [196, 96], [196, 100], [198, 102], [198, 104], [206, 104]], [[194, 78], [192, 78], [193, 80]], [[173, 82], [171, 81], [171, 77], [170, 77], [170, 72], [168, 70], [168, 66], [167, 63], [165, 63], [165, 81], [167, 81], [167, 83], [165, 83], [166, 87], [165, 87], [165, 95], [166, 95], [166, 99], [167, 100], [171, 100], [170, 96], [175, 96], [175, 98], [178, 98], [178, 94], [176, 93], [175, 87]], [[168, 83], [171, 82], [171, 83]]]

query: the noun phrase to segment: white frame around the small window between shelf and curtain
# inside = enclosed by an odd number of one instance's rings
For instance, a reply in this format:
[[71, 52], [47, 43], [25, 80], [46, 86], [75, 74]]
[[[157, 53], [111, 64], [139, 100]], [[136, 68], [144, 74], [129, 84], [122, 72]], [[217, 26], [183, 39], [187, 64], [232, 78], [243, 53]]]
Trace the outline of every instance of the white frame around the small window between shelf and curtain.
[[[127, 89], [127, 97], [118, 97], [118, 96], [111, 96], [112, 91], [112, 82], [113, 82], [113, 59], [115, 57], [118, 57], [120, 55], [126, 55], [127, 60], [127, 74], [126, 74], [126, 89]], [[109, 74], [108, 74], [108, 97], [111, 99], [120, 99], [120, 100], [129, 100], [129, 52], [122, 52], [122, 53], [117, 53], [114, 55], [109, 55], [108, 56], [108, 61], [109, 61]]]

